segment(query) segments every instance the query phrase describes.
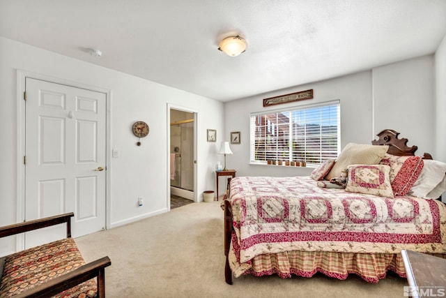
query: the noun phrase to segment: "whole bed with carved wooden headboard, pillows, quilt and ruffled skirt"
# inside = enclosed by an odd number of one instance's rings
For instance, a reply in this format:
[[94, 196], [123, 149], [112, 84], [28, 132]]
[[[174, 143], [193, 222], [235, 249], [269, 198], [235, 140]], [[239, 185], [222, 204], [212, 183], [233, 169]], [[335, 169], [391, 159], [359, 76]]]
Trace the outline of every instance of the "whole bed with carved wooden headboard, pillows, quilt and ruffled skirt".
[[[222, 202], [226, 283], [243, 274], [316, 272], [377, 283], [389, 270], [406, 277], [403, 249], [446, 258], [446, 205], [436, 200], [446, 164], [415, 156], [417, 147], [396, 131], [378, 137], [352, 144], [358, 151], [348, 144], [309, 177], [230, 179]], [[363, 158], [364, 148], [378, 153]]]

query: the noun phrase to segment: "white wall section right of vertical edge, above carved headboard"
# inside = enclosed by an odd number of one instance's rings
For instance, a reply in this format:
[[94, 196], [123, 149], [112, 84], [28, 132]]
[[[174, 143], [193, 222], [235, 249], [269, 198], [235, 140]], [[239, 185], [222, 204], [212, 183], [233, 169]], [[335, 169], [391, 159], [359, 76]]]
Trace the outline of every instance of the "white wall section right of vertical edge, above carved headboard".
[[373, 70], [374, 131], [392, 128], [417, 145], [417, 155], [433, 145], [435, 72], [433, 56], [409, 59]]

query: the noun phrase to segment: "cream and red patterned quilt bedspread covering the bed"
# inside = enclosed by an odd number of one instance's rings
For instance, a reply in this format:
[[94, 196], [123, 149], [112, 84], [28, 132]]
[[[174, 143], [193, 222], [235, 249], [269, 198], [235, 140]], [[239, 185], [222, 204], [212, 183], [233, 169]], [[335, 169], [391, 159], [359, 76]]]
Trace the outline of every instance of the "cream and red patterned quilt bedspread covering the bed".
[[446, 253], [446, 207], [318, 188], [309, 177], [236, 177], [229, 200], [240, 262], [283, 251]]

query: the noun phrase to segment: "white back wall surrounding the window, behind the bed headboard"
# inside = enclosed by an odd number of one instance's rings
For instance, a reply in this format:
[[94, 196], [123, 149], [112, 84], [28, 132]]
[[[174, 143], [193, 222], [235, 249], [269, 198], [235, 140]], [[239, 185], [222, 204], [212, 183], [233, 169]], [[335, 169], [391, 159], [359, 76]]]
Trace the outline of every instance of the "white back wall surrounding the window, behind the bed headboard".
[[[445, 59], [443, 54], [443, 64]], [[443, 76], [445, 75], [443, 70]], [[348, 142], [370, 144], [371, 140], [377, 139], [377, 133], [385, 128], [391, 128], [401, 133], [400, 137], [408, 138], [409, 146], [413, 144], [418, 146], [417, 155], [429, 152], [436, 157], [439, 149], [434, 149], [433, 146], [435, 105], [433, 82], [433, 56], [429, 55], [332, 80], [233, 100], [224, 105], [225, 137], [229, 139], [231, 131], [240, 131], [241, 144], [231, 144], [234, 154], [226, 157], [227, 163], [229, 167], [237, 170], [238, 176], [309, 174], [313, 170], [311, 167], [305, 169], [249, 164], [249, 113], [277, 109], [278, 106], [263, 107], [263, 98], [307, 89], [314, 89], [314, 99], [279, 107], [341, 100], [341, 148]], [[442, 90], [444, 93], [445, 89]], [[444, 99], [443, 105], [445, 105]], [[445, 122], [442, 121], [444, 127]]]

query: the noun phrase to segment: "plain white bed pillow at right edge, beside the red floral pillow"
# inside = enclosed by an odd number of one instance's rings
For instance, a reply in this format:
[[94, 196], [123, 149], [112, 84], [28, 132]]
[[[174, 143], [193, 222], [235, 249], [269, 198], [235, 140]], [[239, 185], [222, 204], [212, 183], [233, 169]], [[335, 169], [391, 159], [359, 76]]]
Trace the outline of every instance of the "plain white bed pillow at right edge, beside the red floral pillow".
[[[446, 191], [445, 183], [442, 184], [442, 181], [445, 179], [446, 163], [431, 159], [424, 159], [423, 161], [424, 167], [420, 177], [410, 188], [408, 195], [421, 198], [438, 198]], [[438, 193], [439, 195], [437, 195]]]

